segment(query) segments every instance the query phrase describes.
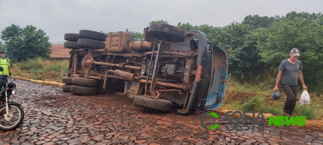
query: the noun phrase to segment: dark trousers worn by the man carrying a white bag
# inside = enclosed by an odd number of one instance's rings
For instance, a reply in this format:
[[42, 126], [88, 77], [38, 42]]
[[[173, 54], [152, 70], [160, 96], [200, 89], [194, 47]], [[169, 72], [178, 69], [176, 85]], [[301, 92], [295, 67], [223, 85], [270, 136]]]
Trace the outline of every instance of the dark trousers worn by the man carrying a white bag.
[[281, 84], [281, 87], [287, 96], [283, 109], [292, 116], [297, 101], [297, 85]]

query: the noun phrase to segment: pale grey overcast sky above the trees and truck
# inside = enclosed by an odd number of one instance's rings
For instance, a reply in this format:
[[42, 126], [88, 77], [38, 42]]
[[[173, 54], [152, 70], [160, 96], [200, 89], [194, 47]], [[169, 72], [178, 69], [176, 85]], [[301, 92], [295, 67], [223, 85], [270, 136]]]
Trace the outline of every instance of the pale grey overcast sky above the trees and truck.
[[45, 31], [50, 42], [81, 29], [143, 32], [152, 20], [171, 25], [190, 22], [226, 26], [247, 15], [318, 13], [323, 0], [0, 0], [0, 30], [13, 24], [33, 25]]

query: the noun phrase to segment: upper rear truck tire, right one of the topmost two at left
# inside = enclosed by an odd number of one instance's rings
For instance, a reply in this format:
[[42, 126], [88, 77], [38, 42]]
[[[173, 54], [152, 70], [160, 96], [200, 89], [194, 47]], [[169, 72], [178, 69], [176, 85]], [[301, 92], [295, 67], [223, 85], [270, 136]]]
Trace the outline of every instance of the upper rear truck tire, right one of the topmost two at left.
[[106, 41], [106, 34], [91, 30], [80, 30], [79, 31], [79, 38], [97, 40], [97, 41]]

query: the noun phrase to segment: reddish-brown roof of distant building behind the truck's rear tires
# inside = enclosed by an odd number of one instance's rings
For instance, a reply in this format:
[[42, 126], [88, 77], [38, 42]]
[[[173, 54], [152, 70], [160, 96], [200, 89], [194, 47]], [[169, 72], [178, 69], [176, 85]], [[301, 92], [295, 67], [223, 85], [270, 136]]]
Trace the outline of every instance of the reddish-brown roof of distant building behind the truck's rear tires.
[[68, 49], [64, 47], [64, 44], [56, 44], [52, 45], [50, 48], [52, 54], [51, 59], [70, 59], [70, 51], [72, 49]]

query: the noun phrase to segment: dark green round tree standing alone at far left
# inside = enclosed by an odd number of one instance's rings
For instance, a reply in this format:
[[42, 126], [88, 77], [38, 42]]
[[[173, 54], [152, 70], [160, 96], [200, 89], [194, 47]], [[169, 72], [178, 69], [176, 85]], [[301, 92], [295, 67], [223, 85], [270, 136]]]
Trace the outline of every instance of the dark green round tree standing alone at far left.
[[18, 25], [11, 24], [1, 31], [1, 39], [5, 41], [7, 56], [13, 60], [50, 57], [49, 37], [43, 30], [37, 30], [33, 25], [27, 25], [22, 29]]

